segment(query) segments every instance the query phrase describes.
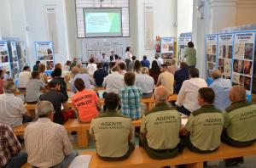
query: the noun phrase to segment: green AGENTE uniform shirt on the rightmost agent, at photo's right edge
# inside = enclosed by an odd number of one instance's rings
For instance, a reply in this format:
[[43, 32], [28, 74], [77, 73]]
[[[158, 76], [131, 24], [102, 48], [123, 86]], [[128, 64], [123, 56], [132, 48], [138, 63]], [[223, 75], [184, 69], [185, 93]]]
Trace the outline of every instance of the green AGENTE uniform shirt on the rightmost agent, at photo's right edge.
[[256, 104], [231, 104], [224, 112], [224, 119], [224, 128], [233, 140], [247, 142], [256, 139]]

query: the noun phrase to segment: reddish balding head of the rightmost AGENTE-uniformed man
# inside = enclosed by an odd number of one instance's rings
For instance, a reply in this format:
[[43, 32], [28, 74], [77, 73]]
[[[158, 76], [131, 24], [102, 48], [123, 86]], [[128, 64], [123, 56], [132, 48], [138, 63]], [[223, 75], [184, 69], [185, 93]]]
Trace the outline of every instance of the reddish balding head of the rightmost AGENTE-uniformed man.
[[241, 86], [234, 86], [230, 89], [230, 100], [232, 103], [246, 101], [246, 90]]

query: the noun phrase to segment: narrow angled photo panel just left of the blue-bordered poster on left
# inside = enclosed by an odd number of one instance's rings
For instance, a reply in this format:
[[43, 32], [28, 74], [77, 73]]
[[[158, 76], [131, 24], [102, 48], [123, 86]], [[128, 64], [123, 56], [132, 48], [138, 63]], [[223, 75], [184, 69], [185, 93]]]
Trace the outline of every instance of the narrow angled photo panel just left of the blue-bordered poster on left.
[[20, 42], [16, 42], [16, 44], [17, 44], [20, 70], [23, 70], [23, 67], [28, 65], [28, 61], [26, 58], [26, 42], [20, 41]]

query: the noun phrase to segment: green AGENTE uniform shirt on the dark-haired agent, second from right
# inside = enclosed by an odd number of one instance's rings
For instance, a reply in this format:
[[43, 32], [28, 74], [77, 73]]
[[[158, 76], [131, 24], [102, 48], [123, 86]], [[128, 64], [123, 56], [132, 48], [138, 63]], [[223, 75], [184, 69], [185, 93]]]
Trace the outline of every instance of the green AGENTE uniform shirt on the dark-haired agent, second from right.
[[204, 151], [214, 150], [220, 144], [224, 115], [213, 105], [202, 106], [189, 116], [185, 126], [190, 142]]

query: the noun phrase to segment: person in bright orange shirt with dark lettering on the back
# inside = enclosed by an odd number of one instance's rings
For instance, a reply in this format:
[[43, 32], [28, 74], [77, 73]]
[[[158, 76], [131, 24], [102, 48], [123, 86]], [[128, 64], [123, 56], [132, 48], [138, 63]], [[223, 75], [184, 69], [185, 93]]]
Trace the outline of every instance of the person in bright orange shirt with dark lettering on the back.
[[101, 101], [94, 90], [85, 89], [84, 81], [81, 78], [77, 78], [74, 85], [78, 92], [73, 95], [72, 104], [79, 112], [79, 121], [90, 122], [96, 115], [99, 115]]

